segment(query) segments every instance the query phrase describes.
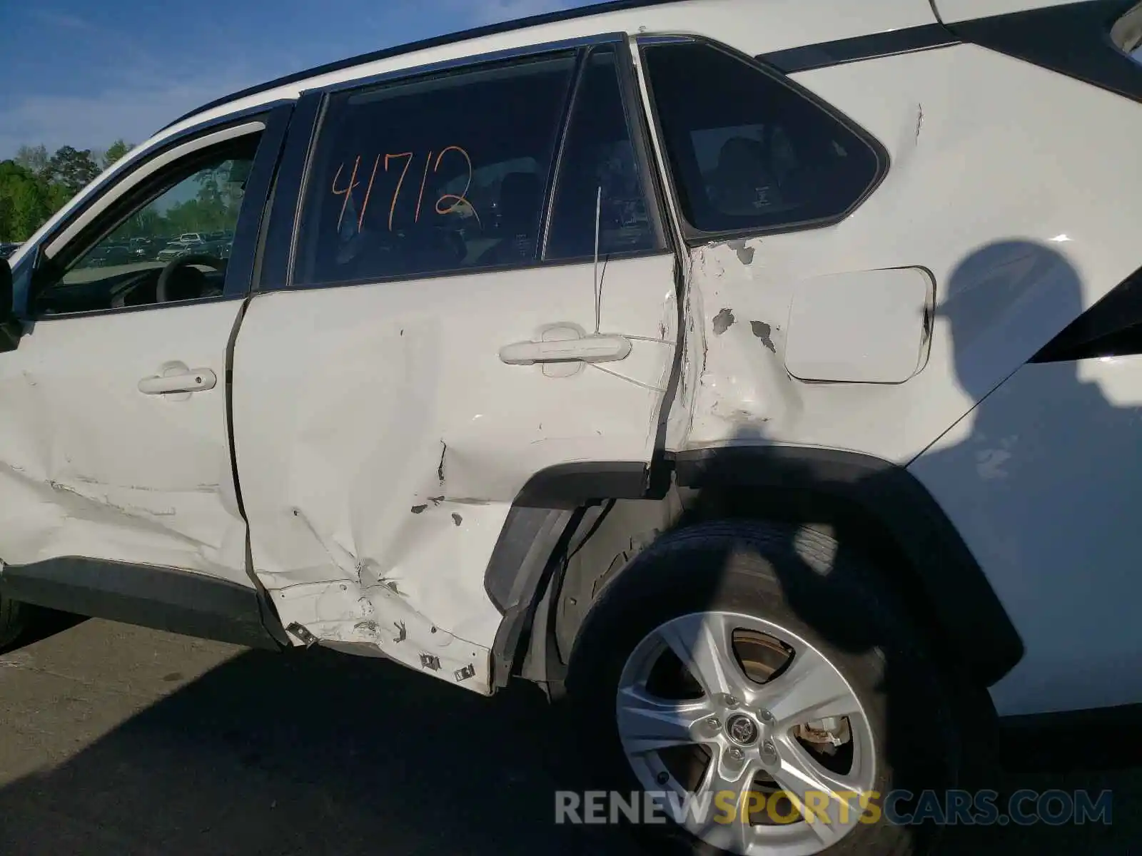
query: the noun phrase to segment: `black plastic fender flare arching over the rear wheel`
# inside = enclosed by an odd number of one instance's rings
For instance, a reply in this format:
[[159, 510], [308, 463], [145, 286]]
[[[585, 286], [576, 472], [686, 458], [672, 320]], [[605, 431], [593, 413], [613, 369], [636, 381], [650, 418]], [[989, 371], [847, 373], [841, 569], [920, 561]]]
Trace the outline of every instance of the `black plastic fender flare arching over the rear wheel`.
[[[1022, 659], [1023, 641], [983, 570], [906, 468], [856, 452], [803, 446], [699, 450], [664, 465], [671, 466], [679, 487], [765, 494], [774, 508], [807, 496], [818, 506], [856, 509], [907, 562], [950, 653], [973, 681], [994, 685]], [[650, 487], [649, 469], [642, 462], [563, 465], [536, 474], [521, 491], [484, 575], [488, 597], [504, 615], [492, 651], [496, 686], [507, 683], [525, 654], [541, 661], [528, 677], [558, 679], [547, 601], [560, 586], [561, 557], [577, 531], [589, 530], [602, 502], [660, 499], [661, 492]], [[531, 632], [537, 620], [547, 627]]]

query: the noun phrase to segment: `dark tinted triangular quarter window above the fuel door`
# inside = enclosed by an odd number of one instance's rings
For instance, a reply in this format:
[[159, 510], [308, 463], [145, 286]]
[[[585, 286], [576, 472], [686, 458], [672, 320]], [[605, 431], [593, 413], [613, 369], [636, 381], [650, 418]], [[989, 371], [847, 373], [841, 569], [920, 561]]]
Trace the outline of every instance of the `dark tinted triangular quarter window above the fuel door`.
[[753, 62], [697, 41], [643, 50], [691, 232], [825, 225], [879, 180], [870, 140]]

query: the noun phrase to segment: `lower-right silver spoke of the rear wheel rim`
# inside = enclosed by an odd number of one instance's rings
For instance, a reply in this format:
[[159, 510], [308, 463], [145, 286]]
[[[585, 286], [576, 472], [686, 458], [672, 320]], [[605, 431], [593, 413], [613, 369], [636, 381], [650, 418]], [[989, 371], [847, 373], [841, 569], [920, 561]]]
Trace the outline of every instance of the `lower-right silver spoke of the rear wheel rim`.
[[856, 824], [863, 789], [847, 776], [825, 769], [795, 738], [783, 736], [777, 743], [780, 762], [770, 768], [770, 775], [821, 842], [834, 843]]

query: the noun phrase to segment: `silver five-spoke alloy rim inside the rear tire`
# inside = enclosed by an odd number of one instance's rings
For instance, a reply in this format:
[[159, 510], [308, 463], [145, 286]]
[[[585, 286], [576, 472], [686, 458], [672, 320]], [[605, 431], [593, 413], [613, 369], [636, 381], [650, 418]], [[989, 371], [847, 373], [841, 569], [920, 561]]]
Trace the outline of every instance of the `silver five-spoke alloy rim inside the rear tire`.
[[[786, 671], [767, 684], [749, 679], [733, 647], [739, 628], [791, 648]], [[656, 671], [660, 665], [667, 668]], [[700, 686], [701, 697], [677, 698], [670, 689], [658, 689], [659, 677], [662, 687], [686, 685], [683, 669]], [[669, 785], [666, 794], [675, 819], [727, 854], [812, 856], [828, 850], [860, 822], [861, 796], [875, 786], [875, 737], [841, 670], [796, 632], [756, 615], [707, 612], [660, 624], [627, 657], [614, 710], [624, 751], [641, 785], [646, 791]], [[818, 721], [831, 717], [846, 717], [849, 728]], [[805, 724], [829, 728], [851, 746], [847, 773], [830, 773], [793, 736], [795, 726]], [[711, 752], [701, 781], [674, 781], [668, 750], [691, 746], [699, 752], [699, 745]], [[772, 816], [764, 794], [750, 799], [761, 770], [788, 796], [791, 817]], [[692, 792], [681, 790], [687, 784]], [[675, 798], [682, 802], [675, 805]], [[758, 825], [750, 824], [750, 808], [769, 814], [774, 823], [756, 818]]]

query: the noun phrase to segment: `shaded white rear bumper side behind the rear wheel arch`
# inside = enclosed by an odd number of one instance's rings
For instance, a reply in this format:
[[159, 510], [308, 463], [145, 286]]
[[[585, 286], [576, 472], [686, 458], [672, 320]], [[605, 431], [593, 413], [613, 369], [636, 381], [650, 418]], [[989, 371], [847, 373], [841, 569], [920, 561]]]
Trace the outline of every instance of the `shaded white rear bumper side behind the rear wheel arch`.
[[911, 470], [1020, 635], [1002, 713], [1137, 703], [1142, 357], [1031, 364]]

